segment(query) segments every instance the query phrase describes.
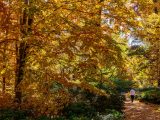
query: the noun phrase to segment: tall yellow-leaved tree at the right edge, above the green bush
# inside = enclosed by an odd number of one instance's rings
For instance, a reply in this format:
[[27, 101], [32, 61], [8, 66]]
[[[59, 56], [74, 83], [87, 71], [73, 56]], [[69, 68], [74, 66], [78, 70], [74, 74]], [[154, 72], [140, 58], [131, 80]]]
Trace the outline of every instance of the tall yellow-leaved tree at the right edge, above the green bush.
[[152, 1], [152, 7], [148, 12], [145, 11], [146, 16], [143, 15], [143, 32], [142, 39], [147, 41], [149, 45], [149, 50], [146, 55], [144, 55], [149, 60], [148, 68], [150, 69], [150, 80], [157, 81], [157, 85], [160, 86], [160, 71], [159, 71], [159, 56], [160, 56], [160, 42], [159, 42], [159, 2], [157, 0]]

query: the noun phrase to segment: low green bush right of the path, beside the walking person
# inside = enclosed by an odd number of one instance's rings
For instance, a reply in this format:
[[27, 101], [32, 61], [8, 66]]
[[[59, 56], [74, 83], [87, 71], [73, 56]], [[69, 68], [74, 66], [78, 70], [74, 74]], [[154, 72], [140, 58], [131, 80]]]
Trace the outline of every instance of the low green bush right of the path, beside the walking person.
[[160, 104], [160, 90], [159, 89], [147, 89], [143, 90], [139, 97], [140, 101]]

